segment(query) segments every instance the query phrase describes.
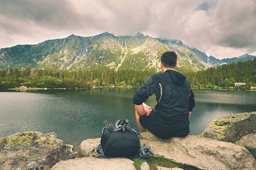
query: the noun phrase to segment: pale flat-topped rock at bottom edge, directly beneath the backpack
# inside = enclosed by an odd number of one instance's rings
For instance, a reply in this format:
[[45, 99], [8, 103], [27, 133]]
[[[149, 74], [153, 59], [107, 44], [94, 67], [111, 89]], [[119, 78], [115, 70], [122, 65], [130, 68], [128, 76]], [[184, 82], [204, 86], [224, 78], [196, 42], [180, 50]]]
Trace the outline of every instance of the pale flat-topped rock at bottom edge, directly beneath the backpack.
[[130, 159], [99, 159], [94, 157], [76, 158], [63, 160], [52, 167], [51, 170], [136, 170], [134, 162]]

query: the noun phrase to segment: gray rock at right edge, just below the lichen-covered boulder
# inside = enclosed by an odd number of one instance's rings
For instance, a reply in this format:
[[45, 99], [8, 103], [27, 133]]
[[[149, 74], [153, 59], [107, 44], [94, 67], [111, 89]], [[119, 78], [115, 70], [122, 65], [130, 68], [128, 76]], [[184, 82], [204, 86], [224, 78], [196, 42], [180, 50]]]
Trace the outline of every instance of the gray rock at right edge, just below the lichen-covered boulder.
[[236, 141], [235, 144], [244, 146], [256, 159], [256, 133], [245, 135], [241, 140]]

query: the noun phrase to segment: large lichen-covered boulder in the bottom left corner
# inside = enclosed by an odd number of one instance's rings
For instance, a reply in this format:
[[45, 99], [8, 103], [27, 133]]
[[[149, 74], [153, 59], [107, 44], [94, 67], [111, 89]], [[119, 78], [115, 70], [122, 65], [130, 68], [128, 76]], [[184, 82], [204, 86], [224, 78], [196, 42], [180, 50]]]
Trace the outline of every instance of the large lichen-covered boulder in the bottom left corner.
[[24, 131], [0, 138], [0, 169], [47, 169], [75, 157], [56, 133]]

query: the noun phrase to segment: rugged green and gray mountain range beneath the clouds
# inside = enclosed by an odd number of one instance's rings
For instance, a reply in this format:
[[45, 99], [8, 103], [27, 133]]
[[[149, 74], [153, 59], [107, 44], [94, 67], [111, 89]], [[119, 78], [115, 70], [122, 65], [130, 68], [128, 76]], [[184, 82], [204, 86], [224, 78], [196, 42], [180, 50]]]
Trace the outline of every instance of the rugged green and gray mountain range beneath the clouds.
[[178, 54], [178, 71], [197, 71], [255, 58], [216, 59], [180, 40], [135, 36], [115, 36], [104, 32], [91, 37], [70, 35], [63, 39], [46, 40], [36, 45], [17, 45], [0, 49], [0, 68], [18, 67], [51, 69], [136, 69], [160, 71], [160, 56], [165, 51]]

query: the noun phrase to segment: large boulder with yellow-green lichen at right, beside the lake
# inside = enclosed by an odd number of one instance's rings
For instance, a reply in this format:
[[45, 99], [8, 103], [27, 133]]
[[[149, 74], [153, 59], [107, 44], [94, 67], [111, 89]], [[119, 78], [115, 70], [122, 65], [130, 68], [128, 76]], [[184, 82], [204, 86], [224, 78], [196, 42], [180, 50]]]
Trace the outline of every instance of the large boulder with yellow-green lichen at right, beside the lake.
[[234, 143], [241, 137], [255, 133], [255, 131], [256, 112], [240, 113], [213, 120], [201, 136]]

